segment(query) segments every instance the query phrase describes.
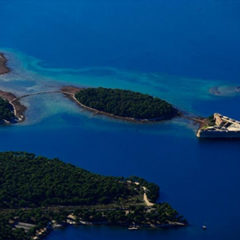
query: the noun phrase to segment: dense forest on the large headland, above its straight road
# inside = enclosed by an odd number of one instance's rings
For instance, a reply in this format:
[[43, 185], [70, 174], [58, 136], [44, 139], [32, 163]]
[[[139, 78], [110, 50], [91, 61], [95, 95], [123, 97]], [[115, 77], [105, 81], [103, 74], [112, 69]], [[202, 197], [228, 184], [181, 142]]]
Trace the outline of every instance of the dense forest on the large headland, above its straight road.
[[107, 204], [137, 195], [120, 178], [104, 177], [29, 153], [0, 153], [0, 207]]

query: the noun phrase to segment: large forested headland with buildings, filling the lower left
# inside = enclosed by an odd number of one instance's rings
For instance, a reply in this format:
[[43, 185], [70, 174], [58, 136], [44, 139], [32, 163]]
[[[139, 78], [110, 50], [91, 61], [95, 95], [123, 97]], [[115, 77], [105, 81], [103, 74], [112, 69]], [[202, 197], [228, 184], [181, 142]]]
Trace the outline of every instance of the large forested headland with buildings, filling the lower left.
[[40, 239], [67, 224], [186, 226], [158, 197], [159, 187], [139, 177], [106, 177], [58, 159], [0, 153], [0, 240]]

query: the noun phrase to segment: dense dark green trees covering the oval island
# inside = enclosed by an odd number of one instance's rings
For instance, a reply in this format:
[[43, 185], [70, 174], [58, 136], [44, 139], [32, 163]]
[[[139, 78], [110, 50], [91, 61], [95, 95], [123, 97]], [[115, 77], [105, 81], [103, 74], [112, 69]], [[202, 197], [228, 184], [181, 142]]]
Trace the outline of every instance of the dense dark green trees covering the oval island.
[[76, 99], [83, 105], [121, 117], [135, 119], [171, 119], [178, 111], [160, 98], [120, 89], [87, 88], [79, 91]]

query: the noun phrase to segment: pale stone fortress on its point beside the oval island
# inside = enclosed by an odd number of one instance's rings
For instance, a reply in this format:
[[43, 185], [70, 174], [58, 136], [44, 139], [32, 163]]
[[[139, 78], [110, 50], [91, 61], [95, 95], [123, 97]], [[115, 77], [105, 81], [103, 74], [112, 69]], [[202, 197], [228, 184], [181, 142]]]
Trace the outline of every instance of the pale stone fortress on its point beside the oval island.
[[207, 118], [197, 131], [198, 138], [239, 138], [240, 121], [219, 113]]

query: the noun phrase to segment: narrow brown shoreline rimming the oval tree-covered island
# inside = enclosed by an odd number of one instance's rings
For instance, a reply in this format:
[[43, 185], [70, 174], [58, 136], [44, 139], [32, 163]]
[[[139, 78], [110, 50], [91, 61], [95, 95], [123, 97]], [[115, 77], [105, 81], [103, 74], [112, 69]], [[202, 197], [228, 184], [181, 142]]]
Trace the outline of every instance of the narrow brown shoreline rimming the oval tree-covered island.
[[[166, 119], [166, 118], [162, 118], [162, 119], [136, 119], [136, 118], [131, 118], [131, 117], [122, 117], [122, 116], [114, 115], [112, 113], [107, 113], [107, 112], [104, 112], [104, 111], [97, 110], [95, 108], [88, 107], [88, 106], [82, 104], [81, 102], [79, 102], [75, 97], [75, 94], [78, 91], [81, 91], [82, 89], [84, 89], [84, 88], [83, 87], [82, 88], [74, 87], [74, 86], [64, 86], [60, 89], [60, 91], [66, 97], [68, 97], [70, 100], [72, 100], [73, 102], [78, 104], [83, 109], [86, 109], [86, 110], [88, 110], [90, 112], [93, 112], [95, 114], [104, 115], [104, 116], [107, 116], [107, 117], [110, 117], [110, 118], [114, 118], [114, 119], [118, 119], [118, 120], [122, 120], [122, 121], [127, 121], [127, 122], [133, 122], [133, 123], [157, 123], [157, 122], [161, 122], [161, 121], [171, 120], [171, 119]], [[176, 117], [178, 117], [180, 115], [181, 114], [179, 112]]]

